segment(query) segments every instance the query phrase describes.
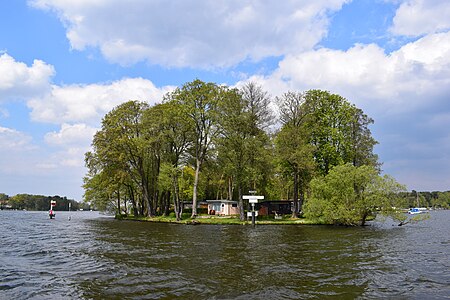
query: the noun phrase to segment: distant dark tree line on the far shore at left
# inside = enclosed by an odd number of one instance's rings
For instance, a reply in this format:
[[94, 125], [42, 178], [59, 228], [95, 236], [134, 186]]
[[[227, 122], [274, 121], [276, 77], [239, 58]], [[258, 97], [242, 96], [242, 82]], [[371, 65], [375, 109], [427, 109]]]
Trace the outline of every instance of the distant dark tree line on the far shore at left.
[[89, 204], [67, 199], [67, 197], [29, 194], [17, 194], [10, 197], [3, 193], [0, 193], [0, 209], [45, 211], [50, 209], [50, 201], [52, 200], [56, 201], [54, 209], [57, 211], [69, 210], [69, 203], [71, 204], [71, 210], [89, 209]]

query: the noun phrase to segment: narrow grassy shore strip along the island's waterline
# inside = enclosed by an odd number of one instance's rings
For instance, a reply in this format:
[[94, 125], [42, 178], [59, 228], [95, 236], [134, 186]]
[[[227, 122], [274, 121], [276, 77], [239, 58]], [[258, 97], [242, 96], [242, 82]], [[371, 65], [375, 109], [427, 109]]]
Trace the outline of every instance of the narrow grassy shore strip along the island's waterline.
[[[129, 221], [141, 221], [141, 222], [154, 222], [154, 223], [173, 223], [173, 224], [185, 224], [185, 225], [252, 225], [251, 219], [249, 221], [241, 221], [239, 217], [219, 217], [200, 215], [197, 218], [183, 218], [177, 221], [175, 217], [171, 216], [157, 216], [157, 217], [134, 217], [134, 216], [116, 216], [116, 219], [129, 220]], [[256, 225], [323, 225], [323, 222], [317, 220], [311, 220], [307, 218], [290, 218], [284, 217], [282, 219], [264, 218], [256, 220]]]

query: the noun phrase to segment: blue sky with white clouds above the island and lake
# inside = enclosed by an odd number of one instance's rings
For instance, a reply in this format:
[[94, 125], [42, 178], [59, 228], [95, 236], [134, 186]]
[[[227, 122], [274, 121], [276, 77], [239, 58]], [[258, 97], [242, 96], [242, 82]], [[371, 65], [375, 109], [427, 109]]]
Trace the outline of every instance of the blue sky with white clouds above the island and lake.
[[450, 190], [448, 0], [0, 1], [0, 193], [82, 200], [102, 117], [196, 78], [322, 89], [409, 190]]

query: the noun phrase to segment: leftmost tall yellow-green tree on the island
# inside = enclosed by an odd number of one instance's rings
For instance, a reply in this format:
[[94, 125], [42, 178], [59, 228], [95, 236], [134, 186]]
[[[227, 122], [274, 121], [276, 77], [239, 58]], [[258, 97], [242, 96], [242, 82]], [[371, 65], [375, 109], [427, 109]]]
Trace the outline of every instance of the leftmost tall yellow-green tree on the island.
[[[150, 180], [157, 174], [152, 173], [154, 157], [150, 154], [153, 145], [146, 140], [150, 135], [144, 133], [142, 126], [142, 115], [147, 108], [146, 103], [128, 101], [103, 118], [102, 128], [94, 136], [93, 152], [86, 154], [89, 172], [85, 178], [85, 189], [89, 193], [85, 194], [85, 199], [103, 203], [113, 198], [115, 193], [117, 211], [120, 213], [122, 185], [127, 186], [129, 195], [133, 194], [130, 189], [138, 186], [142, 207], [148, 216], [154, 214], [155, 201], [150, 200]], [[99, 194], [99, 191], [102, 192]]]

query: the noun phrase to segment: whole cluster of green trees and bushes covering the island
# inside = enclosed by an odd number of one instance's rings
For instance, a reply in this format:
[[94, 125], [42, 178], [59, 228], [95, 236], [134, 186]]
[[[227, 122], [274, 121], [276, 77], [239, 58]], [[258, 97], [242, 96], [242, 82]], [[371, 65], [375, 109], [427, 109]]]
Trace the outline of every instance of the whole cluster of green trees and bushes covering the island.
[[272, 99], [255, 83], [236, 89], [194, 80], [162, 103], [128, 101], [104, 116], [85, 155], [84, 198], [117, 214], [172, 212], [178, 220], [182, 202], [192, 202], [196, 217], [200, 200], [237, 200], [244, 219], [242, 196], [255, 190], [291, 200], [294, 218], [363, 224], [405, 191], [379, 175], [372, 123], [327, 91]]

